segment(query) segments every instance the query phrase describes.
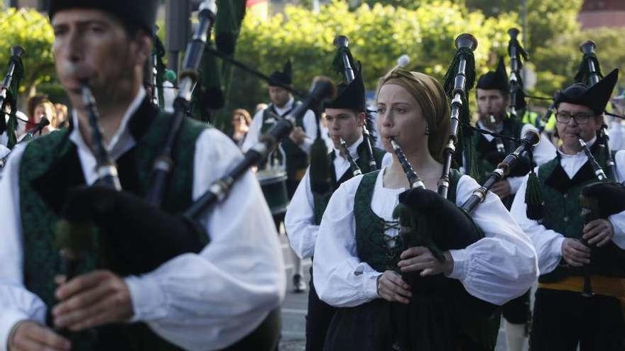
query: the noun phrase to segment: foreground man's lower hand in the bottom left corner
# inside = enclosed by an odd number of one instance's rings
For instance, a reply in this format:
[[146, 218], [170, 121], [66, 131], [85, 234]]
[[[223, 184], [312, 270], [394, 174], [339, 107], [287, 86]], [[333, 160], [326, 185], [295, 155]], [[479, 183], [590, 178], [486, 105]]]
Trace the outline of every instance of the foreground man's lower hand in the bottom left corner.
[[33, 321], [18, 322], [9, 337], [11, 351], [69, 351], [71, 347], [69, 340]]

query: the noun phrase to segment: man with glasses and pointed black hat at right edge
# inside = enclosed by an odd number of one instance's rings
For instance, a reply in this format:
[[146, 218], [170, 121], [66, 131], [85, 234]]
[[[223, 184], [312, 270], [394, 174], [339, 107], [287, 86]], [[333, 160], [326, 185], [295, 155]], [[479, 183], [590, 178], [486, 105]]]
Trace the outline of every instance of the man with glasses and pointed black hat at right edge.
[[[617, 77], [614, 70], [592, 87], [575, 83], [556, 94], [562, 145], [526, 178], [511, 208], [538, 254], [532, 350], [625, 347], [625, 190], [618, 184], [625, 180], [625, 151], [612, 155], [611, 179], [597, 136]], [[588, 202], [595, 204], [582, 212]]]

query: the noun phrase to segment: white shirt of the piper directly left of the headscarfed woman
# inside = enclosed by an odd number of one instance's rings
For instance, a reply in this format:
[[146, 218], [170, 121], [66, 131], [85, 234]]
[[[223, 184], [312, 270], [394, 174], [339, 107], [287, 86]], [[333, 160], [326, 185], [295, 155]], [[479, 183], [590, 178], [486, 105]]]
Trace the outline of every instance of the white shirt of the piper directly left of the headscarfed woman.
[[[361, 135], [356, 143], [347, 147], [354, 161], [358, 160], [357, 149], [363, 140], [364, 138]], [[331, 152], [335, 153], [335, 160], [333, 161], [335, 179], [341, 179], [352, 165], [349, 164], [349, 161], [342, 156], [338, 149], [333, 148]], [[391, 165], [391, 162], [393, 162], [393, 157], [386, 152], [382, 159], [382, 167]], [[315, 224], [315, 201], [310, 188], [310, 167], [306, 169], [302, 181], [298, 184], [298, 189], [293, 194], [293, 199], [290, 200], [290, 204], [286, 208], [284, 225], [286, 233], [288, 233], [290, 247], [293, 247], [293, 251], [300, 258], [315, 255], [315, 241], [317, 240], [319, 225]]]

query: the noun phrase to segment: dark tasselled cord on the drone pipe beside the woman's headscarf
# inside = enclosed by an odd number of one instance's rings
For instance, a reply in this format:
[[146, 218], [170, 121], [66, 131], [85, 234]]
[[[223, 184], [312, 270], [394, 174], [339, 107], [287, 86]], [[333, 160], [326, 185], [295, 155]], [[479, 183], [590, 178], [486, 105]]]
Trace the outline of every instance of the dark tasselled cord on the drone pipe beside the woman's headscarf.
[[[447, 73], [445, 73], [443, 89], [445, 89], [447, 97], [453, 99], [452, 94], [454, 91], [455, 77], [462, 58], [467, 60], [465, 71], [467, 82], [464, 86], [465, 96], [462, 98], [460, 129], [458, 130], [456, 152], [458, 152], [459, 155], [464, 155], [464, 159], [466, 160], [466, 164], [464, 165], [465, 172], [473, 179], [479, 179], [479, 169], [477, 168], [477, 160], [472, 147], [473, 130], [469, 127], [471, 125], [471, 113], [469, 111], [469, 101], [466, 99], [475, 83], [475, 57], [471, 49], [460, 48], [457, 50], [450, 67], [447, 69]], [[467, 150], [467, 152], [464, 152], [464, 150]]]

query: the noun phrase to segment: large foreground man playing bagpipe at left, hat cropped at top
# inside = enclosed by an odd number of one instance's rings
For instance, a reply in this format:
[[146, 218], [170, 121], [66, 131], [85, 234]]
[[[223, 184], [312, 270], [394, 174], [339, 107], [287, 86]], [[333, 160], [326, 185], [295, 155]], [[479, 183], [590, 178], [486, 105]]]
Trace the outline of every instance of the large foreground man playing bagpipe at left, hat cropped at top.
[[[0, 350], [220, 350], [281, 302], [281, 252], [251, 172], [200, 218], [175, 214], [241, 159], [225, 135], [184, 118], [161, 208], [142, 199], [173, 118], [142, 87], [158, 4], [50, 1], [74, 111], [70, 128], [18, 145], [4, 169]], [[96, 171], [100, 149], [116, 171]], [[94, 184], [116, 174], [121, 191]], [[59, 233], [92, 248], [68, 261]]]

